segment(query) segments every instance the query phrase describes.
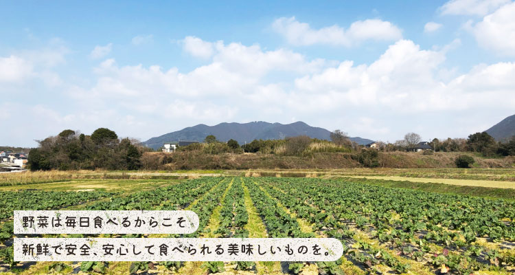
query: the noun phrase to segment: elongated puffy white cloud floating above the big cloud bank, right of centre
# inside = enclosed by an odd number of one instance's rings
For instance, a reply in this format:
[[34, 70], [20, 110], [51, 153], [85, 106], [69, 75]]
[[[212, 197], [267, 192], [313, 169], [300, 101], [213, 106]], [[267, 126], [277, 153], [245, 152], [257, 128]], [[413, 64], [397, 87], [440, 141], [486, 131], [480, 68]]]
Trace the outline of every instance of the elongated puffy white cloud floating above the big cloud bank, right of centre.
[[338, 25], [314, 30], [308, 23], [301, 23], [295, 17], [282, 17], [273, 22], [272, 28], [293, 45], [328, 44], [351, 47], [368, 40], [396, 41], [402, 38], [402, 31], [396, 25], [379, 19], [356, 21], [348, 30]]

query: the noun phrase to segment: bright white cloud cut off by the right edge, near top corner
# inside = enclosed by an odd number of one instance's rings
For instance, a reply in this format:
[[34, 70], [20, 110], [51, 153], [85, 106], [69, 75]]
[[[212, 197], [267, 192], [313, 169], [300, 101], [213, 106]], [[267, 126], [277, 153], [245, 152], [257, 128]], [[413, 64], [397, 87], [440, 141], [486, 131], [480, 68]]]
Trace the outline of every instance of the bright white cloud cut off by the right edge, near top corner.
[[469, 23], [468, 30], [481, 47], [495, 54], [515, 56], [515, 3], [503, 5], [475, 25]]

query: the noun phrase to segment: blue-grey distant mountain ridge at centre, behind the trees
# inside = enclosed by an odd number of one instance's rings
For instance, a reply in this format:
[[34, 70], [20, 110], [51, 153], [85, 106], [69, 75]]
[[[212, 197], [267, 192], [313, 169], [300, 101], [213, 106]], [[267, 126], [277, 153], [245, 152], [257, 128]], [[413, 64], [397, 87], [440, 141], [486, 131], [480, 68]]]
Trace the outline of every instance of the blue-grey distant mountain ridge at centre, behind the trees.
[[[280, 140], [284, 137], [294, 137], [297, 135], [308, 135], [312, 138], [321, 140], [330, 140], [330, 131], [309, 126], [308, 124], [298, 121], [290, 124], [269, 123], [264, 121], [237, 123], [223, 122], [214, 126], [198, 124], [196, 126], [187, 127], [180, 131], [166, 133], [159, 137], [152, 137], [142, 144], [157, 149], [163, 146], [163, 142], [173, 142], [177, 140], [198, 140], [203, 141], [207, 135], [214, 135], [220, 141], [227, 141], [231, 138], [240, 144], [251, 142], [253, 140]], [[367, 144], [373, 142], [361, 137], [350, 137], [350, 140], [358, 144]]]

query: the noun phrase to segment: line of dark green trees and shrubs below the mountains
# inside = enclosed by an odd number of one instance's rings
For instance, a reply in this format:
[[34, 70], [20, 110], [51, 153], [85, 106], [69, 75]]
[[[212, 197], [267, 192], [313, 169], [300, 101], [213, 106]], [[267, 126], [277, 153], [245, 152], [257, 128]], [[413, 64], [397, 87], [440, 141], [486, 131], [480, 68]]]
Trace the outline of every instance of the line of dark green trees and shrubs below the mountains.
[[[208, 135], [203, 143], [182, 146], [177, 148], [177, 151], [207, 154], [262, 153], [299, 157], [310, 156], [313, 153], [351, 153], [350, 157], [363, 166], [376, 167], [378, 151], [407, 151], [420, 140], [422, 138], [417, 133], [407, 133], [404, 140], [393, 144], [376, 142], [376, 150], [359, 146], [350, 140], [347, 133], [340, 130], [333, 131], [330, 140], [299, 135], [283, 140], [253, 140], [241, 145], [236, 140], [220, 142], [214, 135]], [[31, 170], [137, 170], [141, 168], [141, 155], [146, 151], [152, 151], [146, 146], [141, 146], [139, 141], [119, 138], [114, 131], [106, 128], [96, 129], [91, 135], [67, 129], [56, 136], [38, 141], [38, 144], [38, 148], [30, 151], [27, 161], [27, 166]], [[515, 155], [515, 137], [507, 142], [496, 142], [485, 132], [469, 135], [468, 139], [448, 138], [440, 141], [435, 138], [428, 144], [437, 152], [469, 151], [485, 157]]]

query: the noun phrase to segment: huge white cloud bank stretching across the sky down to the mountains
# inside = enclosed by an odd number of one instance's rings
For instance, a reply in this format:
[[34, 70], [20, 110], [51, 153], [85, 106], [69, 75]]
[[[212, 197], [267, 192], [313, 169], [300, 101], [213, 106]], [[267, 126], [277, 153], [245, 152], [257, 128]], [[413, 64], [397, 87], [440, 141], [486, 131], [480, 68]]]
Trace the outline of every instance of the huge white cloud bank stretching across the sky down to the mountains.
[[[396, 41], [369, 64], [312, 59], [260, 45], [198, 38], [196, 43], [209, 44], [211, 53], [207, 64], [190, 72], [102, 61], [93, 69], [91, 85], [65, 86], [69, 111], [27, 107], [28, 117], [36, 118], [21, 124], [37, 130], [21, 133], [30, 141], [77, 125], [84, 133], [107, 126], [146, 140], [198, 123], [295, 118], [393, 141], [409, 131], [427, 138], [466, 136], [491, 122], [484, 113], [515, 109], [514, 100], [499, 101], [513, 98], [515, 63], [477, 65], [456, 74], [444, 64], [457, 41], [439, 50]], [[478, 109], [483, 113], [474, 117]], [[465, 116], [473, 119], [460, 120]]]

